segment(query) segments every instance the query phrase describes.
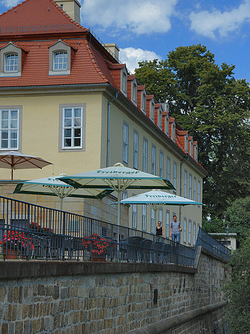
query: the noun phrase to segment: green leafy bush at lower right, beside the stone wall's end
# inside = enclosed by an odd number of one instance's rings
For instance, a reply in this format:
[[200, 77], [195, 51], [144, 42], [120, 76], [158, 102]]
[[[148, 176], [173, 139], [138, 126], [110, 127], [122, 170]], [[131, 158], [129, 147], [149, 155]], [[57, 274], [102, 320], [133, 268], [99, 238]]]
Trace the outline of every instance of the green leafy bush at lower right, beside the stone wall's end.
[[228, 303], [226, 318], [229, 333], [250, 333], [250, 236], [236, 249], [229, 262], [232, 273], [224, 291]]

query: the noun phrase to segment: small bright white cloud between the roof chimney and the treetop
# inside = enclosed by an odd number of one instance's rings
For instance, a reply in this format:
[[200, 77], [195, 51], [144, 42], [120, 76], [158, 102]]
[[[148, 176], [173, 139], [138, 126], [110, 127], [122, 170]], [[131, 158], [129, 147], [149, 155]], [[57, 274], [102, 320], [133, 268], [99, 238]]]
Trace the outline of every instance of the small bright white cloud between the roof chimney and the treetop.
[[161, 56], [153, 51], [134, 49], [134, 47], [125, 47], [120, 49], [121, 63], [126, 63], [127, 69], [134, 73], [134, 69], [138, 67], [138, 61], [161, 59]]

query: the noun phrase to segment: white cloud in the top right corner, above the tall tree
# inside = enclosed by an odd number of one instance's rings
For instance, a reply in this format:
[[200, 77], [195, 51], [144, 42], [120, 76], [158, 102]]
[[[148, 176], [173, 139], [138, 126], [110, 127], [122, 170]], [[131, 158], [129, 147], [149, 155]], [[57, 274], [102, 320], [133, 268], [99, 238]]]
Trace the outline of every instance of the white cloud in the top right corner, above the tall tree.
[[238, 8], [227, 12], [213, 10], [208, 12], [191, 12], [191, 30], [206, 37], [215, 38], [228, 36], [230, 32], [238, 30], [245, 22], [250, 21], [250, 0], [245, 0]]

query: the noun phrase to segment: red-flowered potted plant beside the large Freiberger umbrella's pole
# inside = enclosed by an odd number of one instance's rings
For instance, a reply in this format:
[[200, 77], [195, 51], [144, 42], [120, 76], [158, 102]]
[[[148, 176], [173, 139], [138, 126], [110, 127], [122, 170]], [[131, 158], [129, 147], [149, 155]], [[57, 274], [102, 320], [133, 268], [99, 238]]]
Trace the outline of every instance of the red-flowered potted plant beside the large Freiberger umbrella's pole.
[[101, 238], [97, 233], [86, 236], [82, 240], [82, 245], [91, 254], [92, 261], [105, 261], [106, 256], [110, 256], [111, 252], [117, 249], [116, 245], [107, 238]]

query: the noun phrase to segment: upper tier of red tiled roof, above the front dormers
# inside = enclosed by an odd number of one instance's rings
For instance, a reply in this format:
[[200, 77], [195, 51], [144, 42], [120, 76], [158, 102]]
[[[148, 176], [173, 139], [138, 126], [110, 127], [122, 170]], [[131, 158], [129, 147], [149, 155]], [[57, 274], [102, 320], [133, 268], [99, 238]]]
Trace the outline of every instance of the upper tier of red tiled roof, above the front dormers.
[[53, 0], [25, 0], [19, 3], [0, 15], [0, 29], [5, 36], [87, 31]]

